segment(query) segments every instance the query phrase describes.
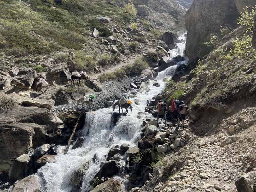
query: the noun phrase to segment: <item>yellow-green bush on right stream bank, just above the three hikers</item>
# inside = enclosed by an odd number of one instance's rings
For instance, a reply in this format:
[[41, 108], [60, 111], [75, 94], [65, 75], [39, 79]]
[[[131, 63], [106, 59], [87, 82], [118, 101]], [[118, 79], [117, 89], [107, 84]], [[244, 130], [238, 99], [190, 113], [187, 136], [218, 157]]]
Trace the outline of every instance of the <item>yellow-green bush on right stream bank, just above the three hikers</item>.
[[168, 82], [165, 83], [164, 90], [168, 96], [168, 100], [178, 99], [181, 100], [185, 95], [185, 88], [186, 84], [181, 82], [174, 82], [170, 79]]

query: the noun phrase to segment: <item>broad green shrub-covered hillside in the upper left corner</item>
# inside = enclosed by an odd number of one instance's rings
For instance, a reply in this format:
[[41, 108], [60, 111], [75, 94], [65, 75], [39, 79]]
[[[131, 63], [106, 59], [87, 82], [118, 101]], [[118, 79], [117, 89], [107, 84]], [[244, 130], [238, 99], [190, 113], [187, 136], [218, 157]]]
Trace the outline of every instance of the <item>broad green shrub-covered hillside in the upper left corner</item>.
[[92, 28], [96, 27], [101, 36], [112, 34], [96, 19], [98, 15], [116, 16], [114, 20], [128, 22], [134, 18], [122, 8], [101, 0], [93, 4], [89, 0], [4, 0], [0, 1], [0, 11], [0, 52], [16, 57], [82, 50]]

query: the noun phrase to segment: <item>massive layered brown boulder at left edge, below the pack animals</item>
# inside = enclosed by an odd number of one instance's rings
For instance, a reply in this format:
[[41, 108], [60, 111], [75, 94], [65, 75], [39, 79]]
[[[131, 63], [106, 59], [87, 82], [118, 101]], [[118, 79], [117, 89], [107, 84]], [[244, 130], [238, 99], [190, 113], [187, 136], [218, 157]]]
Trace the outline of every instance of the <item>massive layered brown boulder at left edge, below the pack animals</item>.
[[63, 122], [45, 108], [18, 106], [12, 112], [0, 114], [0, 172], [8, 171], [28, 148], [63, 142], [65, 136], [55, 134], [59, 129], [63, 129]]

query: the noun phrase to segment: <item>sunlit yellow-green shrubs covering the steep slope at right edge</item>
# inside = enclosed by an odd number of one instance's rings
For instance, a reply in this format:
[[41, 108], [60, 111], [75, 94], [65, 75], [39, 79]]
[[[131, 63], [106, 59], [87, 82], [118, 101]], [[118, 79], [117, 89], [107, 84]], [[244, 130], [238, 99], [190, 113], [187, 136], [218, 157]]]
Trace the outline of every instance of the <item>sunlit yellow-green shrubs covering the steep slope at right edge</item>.
[[252, 47], [255, 13], [255, 8], [251, 11], [246, 9], [244, 13], [241, 13], [238, 24], [243, 26], [244, 35], [236, 37], [231, 48], [220, 47], [214, 50], [212, 54], [215, 58], [199, 60], [197, 67], [192, 70], [198, 81], [206, 85], [192, 101], [192, 106], [203, 103], [206, 99], [225, 95], [232, 87], [251, 79], [254, 73], [246, 74], [246, 71], [251, 68], [250, 63], [256, 59], [256, 52]]

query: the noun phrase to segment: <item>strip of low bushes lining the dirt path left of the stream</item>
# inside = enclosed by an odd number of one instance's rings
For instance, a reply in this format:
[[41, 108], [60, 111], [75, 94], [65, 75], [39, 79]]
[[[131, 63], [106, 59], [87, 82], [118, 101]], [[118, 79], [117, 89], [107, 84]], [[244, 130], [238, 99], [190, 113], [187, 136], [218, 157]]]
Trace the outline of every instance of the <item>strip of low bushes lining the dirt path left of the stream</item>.
[[146, 69], [147, 67], [148, 64], [144, 60], [142, 60], [142, 58], [138, 58], [133, 62], [133, 64], [116, 69], [114, 72], [111, 73], [104, 73], [100, 75], [98, 79], [103, 82], [122, 78], [124, 76], [136, 76], [140, 75], [141, 71]]

